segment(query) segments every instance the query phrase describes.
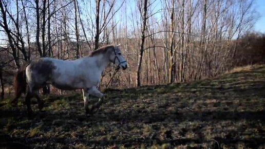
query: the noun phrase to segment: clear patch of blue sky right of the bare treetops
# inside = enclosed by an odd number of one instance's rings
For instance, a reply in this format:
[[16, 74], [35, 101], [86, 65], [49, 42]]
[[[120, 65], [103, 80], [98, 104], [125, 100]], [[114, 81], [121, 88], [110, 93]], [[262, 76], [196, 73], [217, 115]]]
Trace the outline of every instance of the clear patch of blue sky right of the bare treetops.
[[265, 0], [257, 0], [257, 11], [259, 12], [260, 18], [256, 22], [254, 29], [265, 33]]

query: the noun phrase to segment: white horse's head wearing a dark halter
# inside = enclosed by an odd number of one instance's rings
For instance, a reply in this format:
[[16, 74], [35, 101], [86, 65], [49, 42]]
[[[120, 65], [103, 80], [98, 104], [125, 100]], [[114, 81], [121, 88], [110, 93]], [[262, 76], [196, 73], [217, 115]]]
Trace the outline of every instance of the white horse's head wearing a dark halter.
[[113, 46], [113, 51], [111, 51], [109, 59], [113, 64], [117, 65], [119, 69], [122, 68], [125, 70], [127, 68], [127, 61], [122, 56], [120, 44]]

